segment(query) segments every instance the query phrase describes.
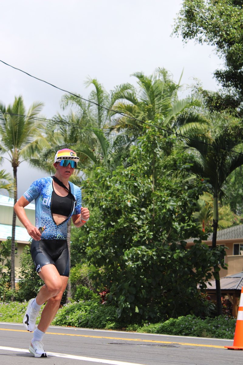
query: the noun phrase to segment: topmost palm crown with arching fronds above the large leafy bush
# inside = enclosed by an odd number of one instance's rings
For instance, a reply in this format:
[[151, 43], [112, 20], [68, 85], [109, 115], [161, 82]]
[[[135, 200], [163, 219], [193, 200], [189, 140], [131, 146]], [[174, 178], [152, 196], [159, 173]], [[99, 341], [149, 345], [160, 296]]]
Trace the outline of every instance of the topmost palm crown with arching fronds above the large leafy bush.
[[[206, 119], [193, 111], [200, 102], [193, 98], [178, 100], [180, 88], [165, 69], [158, 68], [153, 75], [137, 72], [138, 90], [123, 84], [111, 92], [111, 130], [126, 130], [135, 137], [142, 134], [144, 123], [152, 121], [170, 132], [185, 132], [190, 127], [200, 127]], [[141, 121], [141, 123], [139, 122]], [[151, 124], [151, 123], [150, 123]], [[168, 134], [168, 133], [167, 133]]]

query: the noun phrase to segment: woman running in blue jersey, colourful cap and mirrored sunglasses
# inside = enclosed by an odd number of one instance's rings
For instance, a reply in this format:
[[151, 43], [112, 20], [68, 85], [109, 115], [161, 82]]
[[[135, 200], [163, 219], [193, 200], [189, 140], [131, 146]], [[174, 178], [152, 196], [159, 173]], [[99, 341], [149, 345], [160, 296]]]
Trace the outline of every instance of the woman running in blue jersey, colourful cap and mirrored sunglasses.
[[[79, 157], [70, 149], [57, 151], [54, 159], [56, 173], [40, 178], [20, 197], [14, 206], [17, 217], [32, 237], [31, 256], [36, 272], [44, 281], [36, 298], [28, 303], [23, 324], [33, 332], [29, 351], [35, 357], [47, 357], [42, 339], [54, 319], [69, 276], [67, 222], [72, 217], [76, 227], [89, 220], [89, 210], [81, 206], [81, 190], [69, 182]], [[28, 220], [24, 207], [35, 200], [35, 226]], [[40, 322], [36, 317], [46, 303]]]

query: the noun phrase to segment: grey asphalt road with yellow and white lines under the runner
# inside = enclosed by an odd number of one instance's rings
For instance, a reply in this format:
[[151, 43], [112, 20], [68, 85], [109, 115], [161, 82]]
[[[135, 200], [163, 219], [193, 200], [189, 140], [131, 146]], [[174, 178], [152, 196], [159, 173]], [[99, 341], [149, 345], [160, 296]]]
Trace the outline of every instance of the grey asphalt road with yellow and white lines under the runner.
[[48, 358], [28, 351], [32, 334], [23, 324], [0, 323], [0, 364], [28, 365], [242, 365], [232, 340], [152, 335], [51, 326], [43, 343]]

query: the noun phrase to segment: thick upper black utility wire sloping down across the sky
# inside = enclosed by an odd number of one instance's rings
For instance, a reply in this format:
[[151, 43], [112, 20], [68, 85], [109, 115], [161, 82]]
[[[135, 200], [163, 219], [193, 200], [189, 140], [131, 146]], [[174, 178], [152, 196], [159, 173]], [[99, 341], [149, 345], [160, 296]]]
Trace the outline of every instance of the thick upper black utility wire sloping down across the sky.
[[[12, 66], [12, 65], [9, 65], [9, 64], [7, 64], [7, 62], [2, 61], [1, 59], [0, 59], [0, 62], [2, 62], [4, 65], [9, 66], [9, 67], [11, 67], [11, 68], [13, 68], [13, 69], [15, 69], [15, 70], [18, 70], [18, 71], [20, 71], [20, 72], [23, 72], [23, 73], [25, 73], [26, 75], [28, 75], [28, 76], [30, 76], [30, 77], [32, 77], [32, 78], [35, 78], [36, 80], [42, 81], [42, 82], [44, 82], [44, 83], [46, 83], [46, 84], [48, 84], [48, 85], [50, 85], [50, 86], [52, 86], [52, 87], [54, 87], [54, 88], [56, 88], [56, 89], [60, 90], [60, 91], [64, 91], [64, 92], [66, 92], [66, 93], [68, 93], [68, 94], [70, 94], [70, 95], [73, 95], [73, 96], [75, 96], [75, 97], [78, 97], [79, 99], [82, 99], [82, 100], [84, 100], [84, 101], [87, 101], [87, 103], [95, 104], [95, 105], [97, 105], [98, 107], [101, 107], [101, 108], [103, 108], [103, 109], [105, 109], [105, 110], [107, 110], [107, 111], [111, 111], [111, 112], [113, 112], [114, 114], [119, 114], [119, 115], [122, 115], [122, 116], [124, 116], [124, 117], [126, 117], [126, 118], [129, 118], [129, 119], [132, 119], [132, 120], [136, 120], [136, 122], [139, 122], [139, 123], [145, 124], [145, 125], [150, 126], [150, 127], [153, 127], [153, 128], [157, 128], [157, 129], [162, 130], [162, 131], [164, 131], [164, 132], [167, 132], [167, 133], [169, 133], [169, 134], [174, 134], [174, 135], [176, 135], [176, 137], [185, 138], [185, 139], [188, 139], [188, 140], [190, 140], [190, 141], [195, 141], [195, 142], [197, 142], [197, 143], [203, 143], [204, 145], [207, 145], [207, 146], [212, 146], [212, 144], [210, 144], [210, 143], [207, 143], [207, 142], [204, 142], [204, 141], [197, 141], [197, 140], [195, 140], [195, 139], [193, 139], [193, 138], [191, 138], [191, 137], [187, 137], [187, 136], [184, 136], [184, 135], [182, 135], [182, 134], [178, 134], [178, 133], [176, 133], [176, 132], [172, 132], [172, 131], [166, 130], [166, 129], [164, 129], [164, 128], [162, 128], [162, 127], [159, 127], [159, 126], [154, 126], [154, 125], [153, 125], [153, 124], [151, 124], [151, 123], [147, 123], [147, 122], [144, 122], [144, 121], [139, 120], [139, 119], [137, 119], [137, 118], [134, 118], [134, 117], [131, 117], [131, 116], [125, 115], [125, 114], [123, 114], [123, 113], [121, 113], [121, 112], [119, 112], [119, 111], [117, 111], [117, 110], [114, 110], [114, 109], [110, 109], [110, 108], [104, 107], [103, 105], [100, 105], [100, 104], [98, 104], [98, 103], [95, 103], [95, 101], [91, 101], [91, 100], [85, 99], [85, 98], [83, 98], [82, 96], [76, 95], [76, 94], [74, 94], [74, 93], [72, 93], [72, 92], [70, 92], [70, 91], [67, 91], [67, 90], [65, 90], [65, 89], [59, 88], [58, 86], [55, 86], [55, 85], [51, 84], [51, 83], [50, 83], [50, 82], [48, 82], [48, 81], [42, 80], [41, 78], [38, 78], [38, 77], [36, 77], [36, 76], [33, 76], [33, 75], [29, 74], [29, 73], [28, 73], [28, 72], [26, 72], [26, 71], [23, 71], [23, 70], [21, 70], [21, 69], [19, 69], [19, 68], [17, 68], [17, 67], [14, 67], [14, 66]], [[238, 153], [238, 154], [240, 154], [240, 155], [242, 154], [241, 152], [237, 152], [237, 151], [234, 151], [234, 150], [230, 150], [230, 149], [227, 149], [227, 148], [225, 148], [225, 147], [219, 147], [219, 148], [220, 148], [220, 149], [222, 149], [222, 150], [228, 151], [228, 152], [234, 152], [234, 153]]]

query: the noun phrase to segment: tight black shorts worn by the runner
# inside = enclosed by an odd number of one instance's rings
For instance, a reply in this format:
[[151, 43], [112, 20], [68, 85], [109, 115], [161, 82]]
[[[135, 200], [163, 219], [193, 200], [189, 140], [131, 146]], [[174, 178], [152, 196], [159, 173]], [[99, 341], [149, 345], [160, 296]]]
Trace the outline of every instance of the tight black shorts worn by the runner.
[[40, 272], [44, 265], [53, 264], [61, 276], [69, 276], [69, 254], [65, 239], [33, 239], [31, 256], [36, 272]]

